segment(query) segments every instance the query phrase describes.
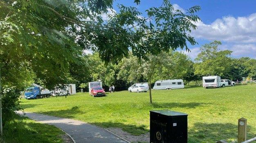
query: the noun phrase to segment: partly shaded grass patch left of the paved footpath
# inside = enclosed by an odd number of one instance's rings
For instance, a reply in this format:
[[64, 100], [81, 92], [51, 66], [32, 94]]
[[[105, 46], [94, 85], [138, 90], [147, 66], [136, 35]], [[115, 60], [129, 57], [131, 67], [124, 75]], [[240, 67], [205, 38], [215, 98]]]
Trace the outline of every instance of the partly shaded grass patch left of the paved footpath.
[[4, 125], [0, 143], [63, 143], [63, 134], [54, 126], [16, 115]]

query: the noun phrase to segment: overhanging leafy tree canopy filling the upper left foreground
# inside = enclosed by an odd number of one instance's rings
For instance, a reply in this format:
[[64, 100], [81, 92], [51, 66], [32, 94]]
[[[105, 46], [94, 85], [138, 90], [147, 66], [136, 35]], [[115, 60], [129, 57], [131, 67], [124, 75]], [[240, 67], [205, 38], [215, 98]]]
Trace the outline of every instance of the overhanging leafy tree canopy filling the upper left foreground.
[[196, 44], [189, 33], [200, 20], [195, 15], [200, 6], [183, 13], [163, 0], [141, 17], [136, 7], [118, 4], [119, 12], [104, 20], [112, 4], [113, 0], [1, 1], [1, 62], [20, 66], [52, 88], [72, 80], [70, 68], [83, 64], [83, 50], [97, 51], [102, 61], [115, 63], [129, 51], [146, 59], [147, 54], [189, 50], [187, 42]]

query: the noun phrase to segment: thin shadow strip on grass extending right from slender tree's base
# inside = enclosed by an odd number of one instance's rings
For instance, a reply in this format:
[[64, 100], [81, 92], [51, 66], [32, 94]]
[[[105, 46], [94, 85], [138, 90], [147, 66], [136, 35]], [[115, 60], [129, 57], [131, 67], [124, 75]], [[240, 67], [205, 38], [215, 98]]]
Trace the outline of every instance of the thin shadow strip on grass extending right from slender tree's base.
[[150, 104], [150, 106], [153, 106], [153, 108], [175, 108], [175, 107], [179, 107], [179, 108], [196, 108], [198, 106], [204, 106], [210, 103], [199, 103], [199, 102], [190, 102], [190, 103], [176, 103], [176, 102], [172, 102], [172, 103], [156, 103], [153, 102], [152, 104]]

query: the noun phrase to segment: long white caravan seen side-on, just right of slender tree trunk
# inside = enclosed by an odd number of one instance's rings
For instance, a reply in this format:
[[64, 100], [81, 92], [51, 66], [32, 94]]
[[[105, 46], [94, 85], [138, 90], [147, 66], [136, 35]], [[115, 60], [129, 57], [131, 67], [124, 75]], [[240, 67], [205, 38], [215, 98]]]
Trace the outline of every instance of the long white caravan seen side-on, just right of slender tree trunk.
[[184, 82], [182, 79], [178, 80], [157, 80], [153, 89], [182, 89], [184, 88]]

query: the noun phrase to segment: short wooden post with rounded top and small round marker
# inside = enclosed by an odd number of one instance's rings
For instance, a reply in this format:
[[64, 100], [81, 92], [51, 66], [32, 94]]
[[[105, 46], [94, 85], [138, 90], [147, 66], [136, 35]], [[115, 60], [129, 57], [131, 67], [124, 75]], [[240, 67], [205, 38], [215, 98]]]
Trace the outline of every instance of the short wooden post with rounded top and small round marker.
[[238, 143], [246, 141], [247, 119], [244, 117], [238, 119]]

